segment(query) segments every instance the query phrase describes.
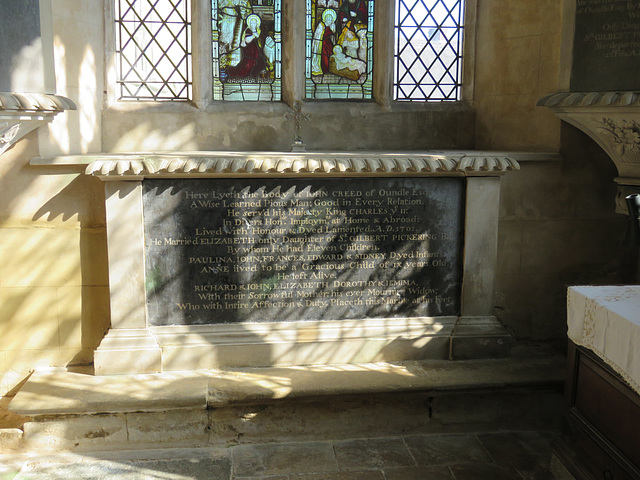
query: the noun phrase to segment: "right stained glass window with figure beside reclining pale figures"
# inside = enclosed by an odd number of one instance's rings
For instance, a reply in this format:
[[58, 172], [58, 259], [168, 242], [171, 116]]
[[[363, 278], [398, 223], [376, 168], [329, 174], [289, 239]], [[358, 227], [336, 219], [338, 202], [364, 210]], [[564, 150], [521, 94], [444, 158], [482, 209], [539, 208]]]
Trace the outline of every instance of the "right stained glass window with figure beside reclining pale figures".
[[371, 99], [374, 0], [306, 2], [306, 97]]

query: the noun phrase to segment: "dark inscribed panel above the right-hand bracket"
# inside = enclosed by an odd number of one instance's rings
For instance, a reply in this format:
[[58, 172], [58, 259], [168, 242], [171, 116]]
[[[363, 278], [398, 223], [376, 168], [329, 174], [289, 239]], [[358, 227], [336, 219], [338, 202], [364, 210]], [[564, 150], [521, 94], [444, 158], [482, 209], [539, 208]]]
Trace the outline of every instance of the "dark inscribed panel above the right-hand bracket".
[[571, 90], [640, 88], [640, 2], [577, 0]]

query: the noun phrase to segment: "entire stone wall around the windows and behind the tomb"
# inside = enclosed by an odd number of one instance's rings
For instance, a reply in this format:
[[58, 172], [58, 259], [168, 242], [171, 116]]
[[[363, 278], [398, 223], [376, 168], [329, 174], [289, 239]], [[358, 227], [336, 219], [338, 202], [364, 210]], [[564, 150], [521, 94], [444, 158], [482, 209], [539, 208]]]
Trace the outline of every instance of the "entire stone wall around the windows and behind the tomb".
[[[464, 104], [394, 104], [379, 85], [377, 103], [303, 106], [313, 115], [302, 130], [308, 150], [562, 149], [563, 162], [523, 162], [502, 179], [496, 313], [521, 338], [562, 340], [566, 285], [624, 274], [613, 164], [535, 107], [559, 89], [561, 3], [478, 2]], [[104, 186], [77, 171], [31, 167], [32, 157], [287, 150], [293, 138], [287, 103], [209, 102], [204, 80], [193, 103], [114, 103], [102, 2], [51, 0], [51, 12], [56, 93], [79, 108], [0, 159], [0, 393], [37, 366], [89, 361], [108, 327]], [[285, 61], [299, 62], [298, 50]], [[388, 68], [376, 75], [389, 78]], [[289, 104], [300, 90], [291, 80]]]

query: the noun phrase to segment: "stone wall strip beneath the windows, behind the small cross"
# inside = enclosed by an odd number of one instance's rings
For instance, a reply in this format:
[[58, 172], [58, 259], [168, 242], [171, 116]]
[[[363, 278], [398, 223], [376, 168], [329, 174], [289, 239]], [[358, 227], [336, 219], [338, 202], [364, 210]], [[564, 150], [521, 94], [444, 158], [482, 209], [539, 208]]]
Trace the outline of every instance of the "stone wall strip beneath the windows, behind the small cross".
[[[174, 106], [174, 111], [127, 107], [105, 113], [105, 151], [289, 151], [294, 138], [285, 104], [216, 105], [204, 111], [187, 105]], [[403, 107], [305, 104], [303, 111], [312, 119], [303, 125], [302, 138], [308, 151], [464, 149], [473, 144], [473, 117], [465, 107]]]

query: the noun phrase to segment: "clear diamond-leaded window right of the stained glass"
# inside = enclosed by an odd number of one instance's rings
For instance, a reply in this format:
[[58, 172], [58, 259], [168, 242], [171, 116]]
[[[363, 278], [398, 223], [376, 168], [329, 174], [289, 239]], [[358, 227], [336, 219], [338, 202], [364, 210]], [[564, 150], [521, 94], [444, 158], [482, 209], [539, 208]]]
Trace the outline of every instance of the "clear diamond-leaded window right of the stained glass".
[[396, 0], [394, 98], [460, 100], [464, 0]]

